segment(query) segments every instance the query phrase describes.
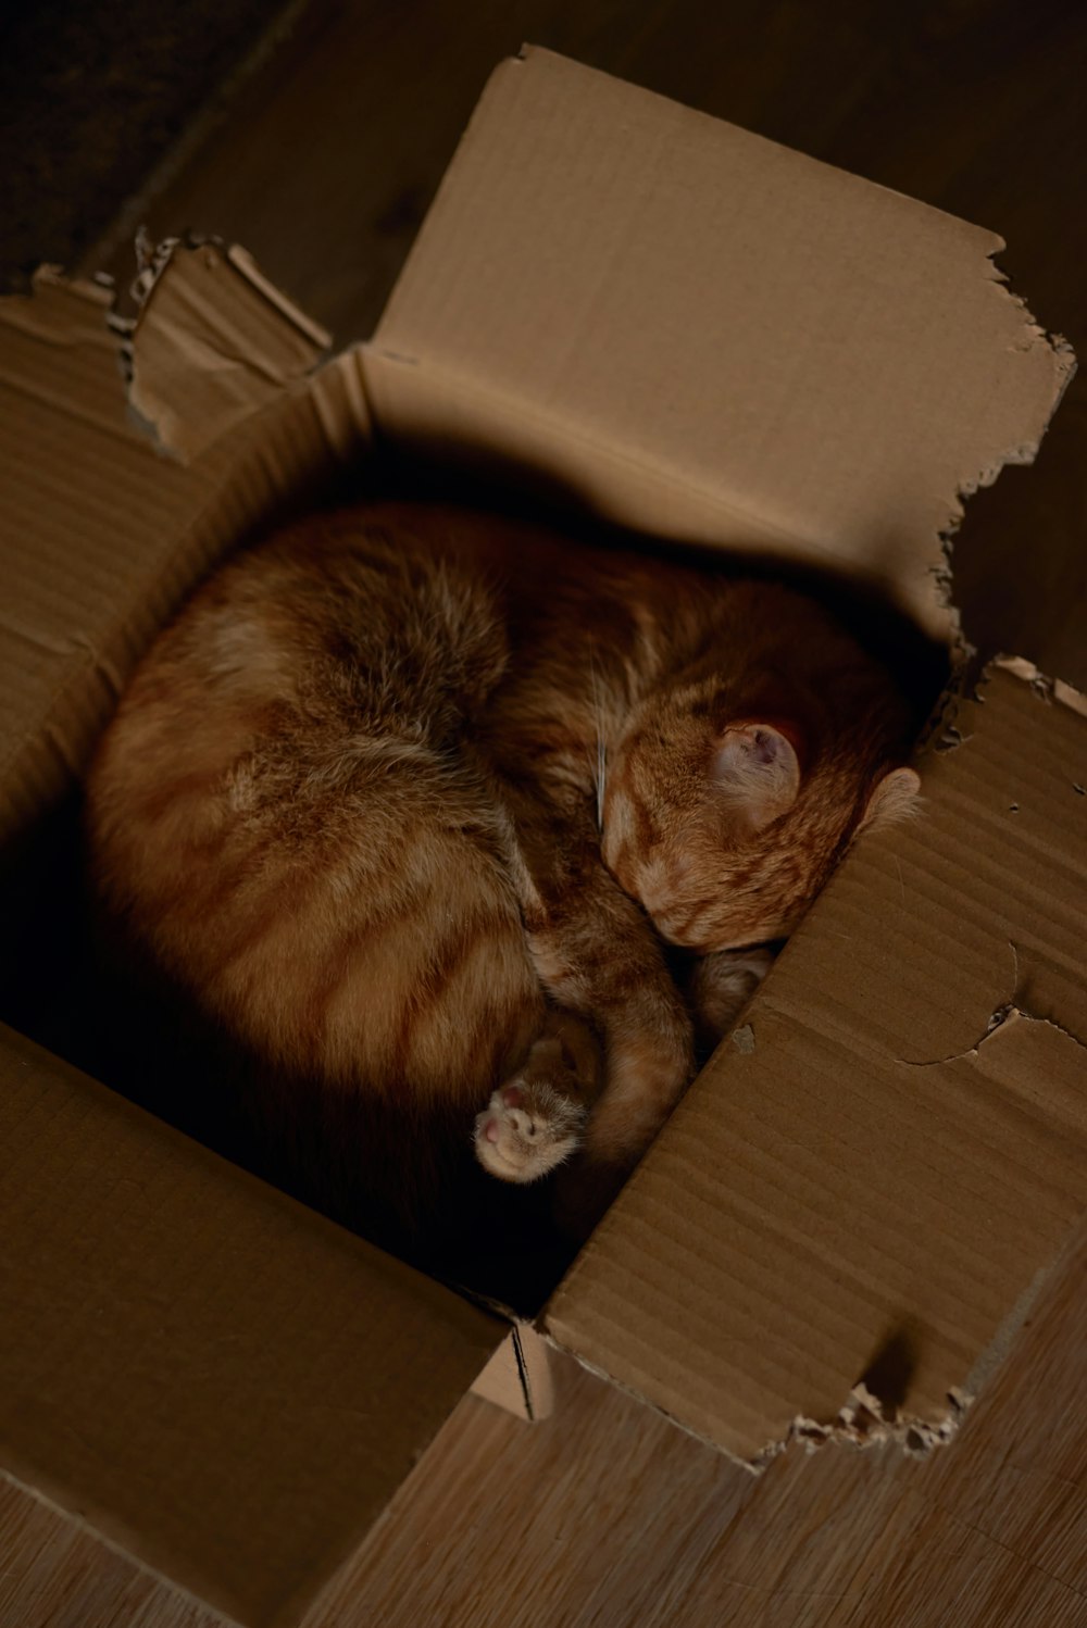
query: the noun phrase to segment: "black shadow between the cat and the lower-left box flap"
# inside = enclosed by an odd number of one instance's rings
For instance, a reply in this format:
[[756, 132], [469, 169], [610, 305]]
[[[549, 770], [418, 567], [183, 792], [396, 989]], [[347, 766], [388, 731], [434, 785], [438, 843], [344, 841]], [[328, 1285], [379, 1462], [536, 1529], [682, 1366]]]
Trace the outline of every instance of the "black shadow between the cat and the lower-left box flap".
[[469, 1127], [456, 1203], [426, 1241], [405, 1232], [360, 1187], [351, 1148], [379, 1138], [394, 1166], [412, 1156], [410, 1125], [277, 1074], [119, 949], [91, 899], [80, 794], [8, 851], [0, 899], [0, 1021], [428, 1275], [519, 1315], [544, 1306], [574, 1254], [552, 1224], [550, 1184], [495, 1182]]

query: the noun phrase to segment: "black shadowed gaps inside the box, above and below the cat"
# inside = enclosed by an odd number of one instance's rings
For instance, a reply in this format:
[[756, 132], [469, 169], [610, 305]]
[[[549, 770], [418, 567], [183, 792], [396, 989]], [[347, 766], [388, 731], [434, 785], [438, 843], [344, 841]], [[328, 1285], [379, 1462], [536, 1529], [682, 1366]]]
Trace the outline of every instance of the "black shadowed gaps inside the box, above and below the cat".
[[[661, 547], [659, 539], [587, 514], [583, 495], [548, 470], [513, 467], [491, 454], [482, 454], [480, 467], [457, 467], [462, 448], [443, 444], [430, 451], [438, 456], [386, 448], [378, 469], [366, 466], [324, 488], [304, 485], [288, 495], [277, 521], [361, 498], [410, 497], [550, 523], [573, 545], [635, 552]], [[239, 545], [249, 540], [242, 537]], [[705, 545], [669, 542], [667, 552], [669, 558], [732, 576], [783, 580], [820, 597], [897, 672], [918, 726], [945, 682], [947, 651], [877, 596], [841, 578], [753, 549], [736, 547], [722, 555]], [[462, 1149], [452, 1182], [456, 1200], [425, 1244], [407, 1234], [389, 1208], [360, 1187], [353, 1159], [363, 1143], [371, 1154], [379, 1148], [378, 1162], [394, 1184], [405, 1159], [426, 1159], [428, 1149], [412, 1141], [400, 1105], [332, 1096], [319, 1081], [285, 1076], [228, 1042], [190, 1001], [148, 975], [101, 930], [86, 874], [81, 812], [81, 798], [73, 793], [7, 855], [0, 877], [0, 1017], [399, 1258], [522, 1315], [537, 1312], [576, 1254], [552, 1223], [553, 1180], [532, 1187], [496, 1182], [475, 1162], [472, 1127], [454, 1127], [451, 1144]], [[208, 931], [215, 931], [213, 923]], [[674, 959], [679, 965], [682, 952]]]

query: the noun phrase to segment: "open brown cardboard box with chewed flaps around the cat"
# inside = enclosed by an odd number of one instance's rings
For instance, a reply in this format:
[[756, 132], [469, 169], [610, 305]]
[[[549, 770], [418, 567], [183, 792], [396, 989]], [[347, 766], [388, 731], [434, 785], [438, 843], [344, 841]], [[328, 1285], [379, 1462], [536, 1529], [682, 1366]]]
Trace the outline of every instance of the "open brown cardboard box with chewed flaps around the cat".
[[[186, 589], [369, 459], [845, 573], [954, 651], [960, 497], [1033, 457], [1072, 366], [999, 247], [527, 50], [368, 345], [174, 244], [125, 389], [109, 291], [44, 270], [0, 321], [8, 921]], [[924, 817], [849, 855], [521, 1369], [542, 1337], [753, 1467], [954, 1433], [1087, 1200], [1087, 705], [1011, 661], [947, 708]], [[509, 1376], [508, 1325], [11, 1029], [0, 1084], [3, 1473], [239, 1621], [296, 1620]]]

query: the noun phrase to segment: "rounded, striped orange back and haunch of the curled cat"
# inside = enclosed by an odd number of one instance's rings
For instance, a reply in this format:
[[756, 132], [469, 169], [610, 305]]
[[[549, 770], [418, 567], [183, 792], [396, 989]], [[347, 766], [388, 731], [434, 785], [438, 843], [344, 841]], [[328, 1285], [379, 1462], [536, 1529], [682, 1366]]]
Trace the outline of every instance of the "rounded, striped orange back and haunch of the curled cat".
[[477, 1104], [539, 1009], [503, 825], [457, 751], [501, 676], [487, 586], [395, 508], [221, 568], [88, 781], [99, 892], [259, 1055]]

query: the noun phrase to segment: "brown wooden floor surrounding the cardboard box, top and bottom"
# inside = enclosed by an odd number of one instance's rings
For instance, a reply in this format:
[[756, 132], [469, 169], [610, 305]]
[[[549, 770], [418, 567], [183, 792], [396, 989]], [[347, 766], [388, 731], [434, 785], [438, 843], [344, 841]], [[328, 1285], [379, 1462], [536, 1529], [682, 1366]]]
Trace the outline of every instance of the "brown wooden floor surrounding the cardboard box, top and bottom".
[[[312, 0], [145, 220], [244, 243], [340, 340], [369, 332], [491, 63], [532, 39], [994, 226], [1087, 352], [1087, 11], [1069, 0]], [[986, 650], [1087, 687], [1087, 391], [970, 508]], [[218, 1618], [0, 1488], [2, 1628]], [[789, 1452], [760, 1480], [563, 1363], [550, 1421], [465, 1398], [306, 1628], [1087, 1625], [1087, 1228], [957, 1442]]]

